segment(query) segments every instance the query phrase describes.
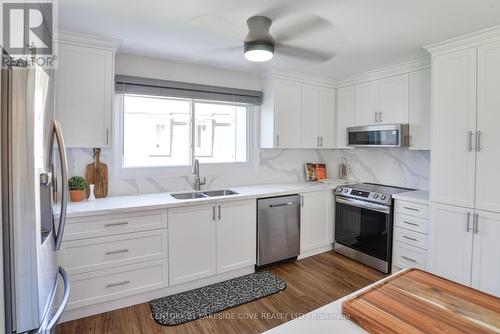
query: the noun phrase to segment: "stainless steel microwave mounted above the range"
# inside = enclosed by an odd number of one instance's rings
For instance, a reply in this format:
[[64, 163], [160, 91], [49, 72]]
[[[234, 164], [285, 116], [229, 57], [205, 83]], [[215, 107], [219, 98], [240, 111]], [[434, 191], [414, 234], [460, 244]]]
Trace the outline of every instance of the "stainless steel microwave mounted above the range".
[[408, 124], [368, 125], [347, 128], [347, 145], [362, 147], [405, 147]]

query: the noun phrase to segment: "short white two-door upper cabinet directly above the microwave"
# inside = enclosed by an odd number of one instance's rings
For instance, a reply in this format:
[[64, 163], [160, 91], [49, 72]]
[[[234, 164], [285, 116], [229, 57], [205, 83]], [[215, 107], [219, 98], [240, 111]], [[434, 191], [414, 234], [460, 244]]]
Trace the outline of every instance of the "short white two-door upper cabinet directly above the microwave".
[[408, 123], [408, 74], [356, 85], [356, 125]]

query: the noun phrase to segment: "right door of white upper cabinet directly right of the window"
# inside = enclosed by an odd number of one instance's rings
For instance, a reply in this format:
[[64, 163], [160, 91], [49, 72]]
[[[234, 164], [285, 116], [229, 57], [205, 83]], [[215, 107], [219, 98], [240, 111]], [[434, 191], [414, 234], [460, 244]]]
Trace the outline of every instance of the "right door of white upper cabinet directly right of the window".
[[300, 146], [304, 148], [317, 148], [320, 146], [318, 134], [319, 96], [319, 87], [302, 84]]

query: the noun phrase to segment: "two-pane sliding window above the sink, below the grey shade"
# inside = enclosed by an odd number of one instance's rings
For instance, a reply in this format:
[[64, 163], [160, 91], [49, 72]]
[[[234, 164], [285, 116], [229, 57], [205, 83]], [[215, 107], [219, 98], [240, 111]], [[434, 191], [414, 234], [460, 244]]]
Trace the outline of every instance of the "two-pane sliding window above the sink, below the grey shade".
[[248, 161], [248, 105], [124, 94], [123, 167]]

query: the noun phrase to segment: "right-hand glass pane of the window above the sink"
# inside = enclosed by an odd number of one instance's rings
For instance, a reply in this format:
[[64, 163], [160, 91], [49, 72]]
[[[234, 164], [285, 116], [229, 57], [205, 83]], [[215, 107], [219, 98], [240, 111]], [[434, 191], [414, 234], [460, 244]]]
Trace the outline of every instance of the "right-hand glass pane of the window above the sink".
[[247, 161], [247, 107], [195, 105], [194, 155], [201, 163]]

